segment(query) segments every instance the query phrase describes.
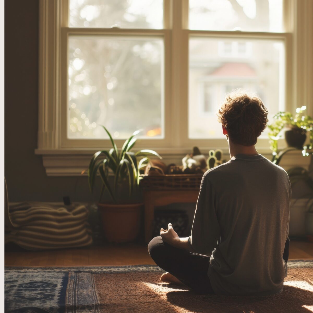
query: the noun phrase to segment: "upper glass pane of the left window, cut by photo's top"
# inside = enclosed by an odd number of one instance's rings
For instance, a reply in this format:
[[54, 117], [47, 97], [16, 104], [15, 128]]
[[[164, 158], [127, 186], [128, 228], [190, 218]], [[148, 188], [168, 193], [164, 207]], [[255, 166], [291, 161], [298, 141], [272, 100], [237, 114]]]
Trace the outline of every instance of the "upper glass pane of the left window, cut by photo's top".
[[163, 28], [163, 0], [70, 0], [70, 27]]

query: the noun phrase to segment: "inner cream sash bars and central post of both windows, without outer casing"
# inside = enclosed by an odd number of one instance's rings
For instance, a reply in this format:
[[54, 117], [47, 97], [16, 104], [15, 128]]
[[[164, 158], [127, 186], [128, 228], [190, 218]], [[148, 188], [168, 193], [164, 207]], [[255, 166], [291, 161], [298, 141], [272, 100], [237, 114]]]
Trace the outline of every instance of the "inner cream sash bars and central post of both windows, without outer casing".
[[[121, 29], [121, 28], [73, 28], [68, 26], [68, 1], [63, 1], [63, 19], [61, 29], [61, 147], [109, 147], [108, 139], [68, 139], [67, 138], [67, 89], [68, 89], [68, 38], [74, 35], [105, 35], [105, 36], [149, 36], [162, 37], [164, 40], [164, 139], [141, 139], [138, 146], [142, 147], [225, 147], [223, 139], [190, 139], [188, 138], [188, 42], [189, 38], [231, 38], [238, 39], [273, 39], [283, 40], [285, 47], [290, 46], [290, 34], [268, 32], [233, 32], [233, 31], [202, 31], [189, 30], [188, 1], [164, 1], [164, 29]], [[172, 25], [170, 20], [172, 18]], [[172, 27], [171, 27], [172, 26]], [[285, 49], [285, 68], [290, 64], [290, 51]], [[171, 63], [172, 60], [172, 63]], [[285, 75], [287, 77], [287, 75]], [[287, 82], [285, 82], [285, 85]], [[288, 88], [285, 88], [288, 92]], [[287, 95], [286, 101], [290, 99]], [[290, 102], [290, 101], [289, 101]], [[286, 102], [286, 109], [292, 110]], [[268, 139], [259, 139], [262, 148], [268, 147]], [[121, 146], [124, 140], [117, 139]]]

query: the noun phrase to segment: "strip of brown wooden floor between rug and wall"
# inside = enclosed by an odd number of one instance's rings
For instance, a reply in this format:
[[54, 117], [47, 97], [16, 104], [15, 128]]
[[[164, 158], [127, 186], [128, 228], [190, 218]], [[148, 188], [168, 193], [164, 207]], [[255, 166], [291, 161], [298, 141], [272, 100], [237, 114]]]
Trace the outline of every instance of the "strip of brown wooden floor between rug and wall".
[[[313, 243], [290, 241], [289, 259], [313, 259]], [[155, 264], [144, 244], [106, 245], [53, 251], [5, 252], [5, 266]]]

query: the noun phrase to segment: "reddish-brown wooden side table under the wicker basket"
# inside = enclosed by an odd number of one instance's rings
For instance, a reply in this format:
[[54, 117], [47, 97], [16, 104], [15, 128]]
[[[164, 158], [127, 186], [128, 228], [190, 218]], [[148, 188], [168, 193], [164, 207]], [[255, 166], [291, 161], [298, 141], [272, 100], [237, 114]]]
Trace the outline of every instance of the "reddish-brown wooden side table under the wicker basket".
[[[154, 208], [172, 203], [196, 203], [199, 189], [144, 190], [145, 242], [152, 239]], [[170, 221], [169, 221], [170, 222]]]

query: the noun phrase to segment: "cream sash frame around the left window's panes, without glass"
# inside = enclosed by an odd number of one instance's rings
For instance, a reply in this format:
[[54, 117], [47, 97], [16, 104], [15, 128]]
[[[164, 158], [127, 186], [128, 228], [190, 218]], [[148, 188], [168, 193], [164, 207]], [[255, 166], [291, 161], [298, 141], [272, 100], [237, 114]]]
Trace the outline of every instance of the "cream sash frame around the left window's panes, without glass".
[[[68, 129], [67, 129], [67, 122], [68, 122], [68, 42], [69, 36], [114, 36], [114, 37], [124, 37], [124, 36], [132, 36], [133, 38], [160, 38], [163, 39], [164, 43], [164, 68], [161, 70], [163, 77], [163, 86], [162, 89], [162, 116], [164, 120], [162, 121], [163, 133], [164, 138], [162, 139], [141, 139], [142, 148], [145, 146], [154, 146], [154, 147], [162, 147], [162, 146], [169, 146], [169, 119], [166, 116], [169, 116], [170, 112], [170, 86], [167, 83], [170, 80], [170, 30], [166, 29], [133, 29], [133, 28], [74, 28], [69, 27], [69, 0], [63, 0], [63, 9], [61, 14], [63, 14], [62, 24], [61, 24], [61, 138], [60, 138], [60, 145], [63, 148], [97, 148], [97, 147], [110, 147], [111, 143], [109, 138], [108, 139], [70, 139], [68, 138]], [[164, 3], [164, 12], [167, 10]], [[164, 15], [164, 14], [163, 14]], [[163, 16], [164, 26], [168, 24], [168, 21], [165, 21], [165, 16]], [[136, 131], [136, 129], [134, 129]], [[125, 139], [114, 139], [116, 145], [122, 146]]]

